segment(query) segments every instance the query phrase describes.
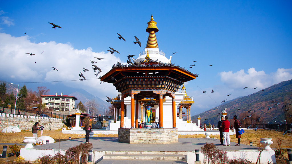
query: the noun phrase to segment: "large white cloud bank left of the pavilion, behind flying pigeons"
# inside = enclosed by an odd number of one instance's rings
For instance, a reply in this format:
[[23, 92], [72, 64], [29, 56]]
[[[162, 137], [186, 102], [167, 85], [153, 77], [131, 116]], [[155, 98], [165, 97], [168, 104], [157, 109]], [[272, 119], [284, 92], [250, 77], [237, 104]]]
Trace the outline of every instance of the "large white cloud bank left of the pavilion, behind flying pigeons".
[[[44, 53], [42, 53], [43, 51]], [[30, 56], [26, 53], [36, 55]], [[92, 69], [92, 65], [101, 68], [101, 76], [108, 72], [113, 64], [116, 64], [117, 61], [121, 62], [114, 54], [93, 52], [90, 47], [77, 50], [70, 43], [32, 43], [28, 40], [28, 36], [13, 37], [5, 33], [0, 33], [0, 54], [1, 80], [17, 82], [68, 81], [58, 83], [73, 88], [82, 88], [102, 99], [105, 96], [114, 97], [117, 94], [112, 84], [103, 83], [101, 85], [99, 79], [94, 79], [98, 77], [94, 75]], [[105, 59], [97, 61], [94, 57]], [[92, 64], [89, 60], [97, 63]], [[58, 71], [51, 67], [57, 68]], [[83, 67], [89, 71], [83, 72]], [[93, 80], [79, 81], [80, 72], [86, 79]], [[36, 85], [41, 86], [41, 84]]]

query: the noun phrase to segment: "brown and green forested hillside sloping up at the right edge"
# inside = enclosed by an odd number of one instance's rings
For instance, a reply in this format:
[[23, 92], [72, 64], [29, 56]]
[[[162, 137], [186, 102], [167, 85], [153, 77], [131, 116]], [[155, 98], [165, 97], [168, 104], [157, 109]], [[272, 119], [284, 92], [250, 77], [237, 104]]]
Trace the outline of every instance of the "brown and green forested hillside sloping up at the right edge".
[[[220, 105], [220, 108], [213, 108], [201, 114], [192, 116], [193, 122], [201, 116], [201, 123], [216, 124], [219, 117], [216, 115], [227, 108], [227, 116], [232, 119], [234, 115], [242, 121], [242, 124], [251, 124], [260, 117], [260, 123], [291, 123], [292, 121], [292, 80], [283, 81], [279, 84], [265, 88], [251, 95], [236, 98]], [[286, 105], [286, 106], [285, 106]], [[241, 109], [239, 109], [241, 108]], [[270, 108], [270, 109], [269, 109]], [[237, 109], [239, 109], [237, 111]], [[251, 110], [251, 111], [250, 111]], [[268, 111], [269, 110], [269, 111]], [[248, 113], [248, 111], [250, 111]], [[246, 116], [250, 118], [244, 119]], [[276, 117], [277, 116], [277, 117]], [[291, 116], [289, 118], [289, 116]], [[276, 117], [274, 120], [273, 118]], [[207, 120], [205, 120], [208, 118]]]

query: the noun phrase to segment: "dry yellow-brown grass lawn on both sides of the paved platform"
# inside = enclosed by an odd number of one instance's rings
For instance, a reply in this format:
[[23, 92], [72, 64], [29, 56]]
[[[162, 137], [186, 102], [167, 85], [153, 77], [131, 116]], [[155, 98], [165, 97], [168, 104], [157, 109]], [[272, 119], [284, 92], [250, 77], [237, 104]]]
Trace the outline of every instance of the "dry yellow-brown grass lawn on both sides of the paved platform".
[[[292, 135], [291, 133], [287, 133], [286, 135], [282, 135], [283, 132], [277, 132], [274, 130], [257, 130], [256, 132], [254, 130], [246, 130], [246, 132], [241, 135], [241, 144], [249, 144], [250, 141], [254, 143], [254, 146], [256, 146], [256, 143], [260, 141], [260, 138], [272, 138], [273, 144], [270, 146], [272, 148], [277, 148], [277, 138], [283, 139], [282, 148], [292, 148]], [[72, 139], [77, 138], [85, 138], [85, 135], [78, 135], [78, 134], [63, 134], [61, 130], [55, 130], [55, 131], [44, 131], [43, 135], [50, 136], [53, 139], [55, 139], [55, 142], [59, 141], [65, 141], [69, 140], [69, 137]], [[21, 131], [19, 133], [7, 133], [5, 136], [5, 133], [0, 133], [0, 143], [13, 143], [13, 144], [23, 144], [24, 137], [32, 136], [31, 131]], [[39, 132], [40, 136], [40, 132]], [[93, 135], [93, 137], [118, 137], [118, 135]], [[202, 138], [205, 137], [205, 135], [179, 135], [178, 137], [184, 138], [184, 137], [194, 137], [194, 138]], [[211, 138], [220, 139], [219, 135], [210, 135]], [[85, 139], [84, 139], [85, 140]], [[235, 135], [230, 136], [231, 142], [237, 142], [237, 138]], [[2, 146], [5, 146], [5, 144], [2, 144]], [[11, 150], [9, 149], [9, 145], [7, 149], [7, 153], [10, 153]], [[20, 148], [23, 148], [24, 146], [20, 146]], [[0, 154], [2, 154], [2, 149], [0, 148]], [[13, 160], [13, 158], [12, 158]], [[1, 162], [0, 162], [1, 163]], [[278, 163], [278, 161], [277, 161]]]

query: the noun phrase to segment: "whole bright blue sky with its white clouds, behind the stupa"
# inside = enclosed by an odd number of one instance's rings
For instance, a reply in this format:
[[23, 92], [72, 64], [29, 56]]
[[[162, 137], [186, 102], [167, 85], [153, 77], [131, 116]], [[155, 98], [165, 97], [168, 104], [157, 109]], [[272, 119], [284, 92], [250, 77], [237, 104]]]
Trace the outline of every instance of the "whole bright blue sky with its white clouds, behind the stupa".
[[[225, 99], [292, 79], [291, 6], [291, 1], [1, 1], [0, 79], [77, 80], [83, 67], [91, 69], [93, 57], [105, 58], [95, 63], [104, 74], [117, 61], [125, 63], [128, 54], [144, 50], [153, 14], [159, 50], [167, 58], [178, 52], [172, 62], [185, 68], [197, 61], [188, 69], [199, 77], [185, 86], [195, 101], [191, 113], [198, 114]], [[109, 47], [120, 54], [109, 54]], [[86, 78], [96, 78], [90, 71]], [[103, 100], [117, 94], [111, 84], [96, 79], [51, 85], [85, 89]]]

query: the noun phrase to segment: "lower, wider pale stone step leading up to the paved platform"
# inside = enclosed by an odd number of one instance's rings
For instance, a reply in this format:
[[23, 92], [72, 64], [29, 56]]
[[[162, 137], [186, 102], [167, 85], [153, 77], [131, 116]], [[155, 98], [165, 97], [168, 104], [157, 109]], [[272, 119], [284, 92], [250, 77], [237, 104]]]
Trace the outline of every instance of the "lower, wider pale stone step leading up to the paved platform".
[[182, 154], [105, 154], [103, 159], [184, 161], [185, 156]]

